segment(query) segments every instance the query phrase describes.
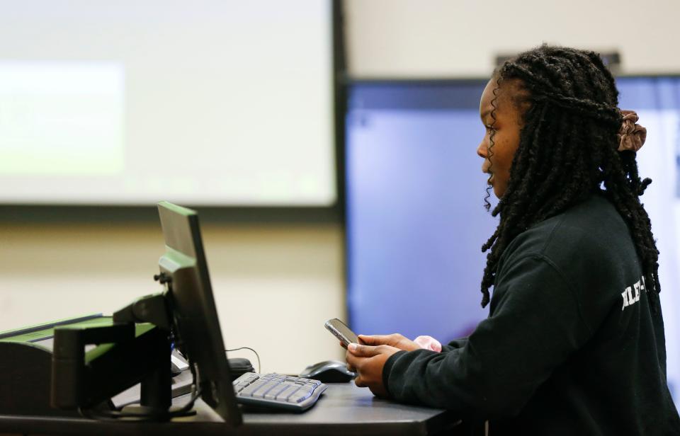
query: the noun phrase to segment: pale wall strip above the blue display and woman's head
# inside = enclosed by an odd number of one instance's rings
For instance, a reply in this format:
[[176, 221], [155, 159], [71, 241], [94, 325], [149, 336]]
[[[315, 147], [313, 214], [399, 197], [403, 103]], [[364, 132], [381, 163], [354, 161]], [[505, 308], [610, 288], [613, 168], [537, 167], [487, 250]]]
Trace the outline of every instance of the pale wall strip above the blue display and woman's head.
[[680, 2], [346, 0], [354, 76], [489, 76], [542, 42], [618, 50], [626, 73], [680, 71]]

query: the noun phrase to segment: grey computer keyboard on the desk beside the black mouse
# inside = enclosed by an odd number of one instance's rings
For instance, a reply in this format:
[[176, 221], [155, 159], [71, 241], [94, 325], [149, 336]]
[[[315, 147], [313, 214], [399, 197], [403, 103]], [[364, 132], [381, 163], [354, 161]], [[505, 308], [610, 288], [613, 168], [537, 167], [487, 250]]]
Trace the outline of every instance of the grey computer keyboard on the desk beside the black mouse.
[[282, 374], [246, 372], [234, 380], [237, 402], [294, 412], [306, 411], [314, 406], [326, 388], [318, 380]]

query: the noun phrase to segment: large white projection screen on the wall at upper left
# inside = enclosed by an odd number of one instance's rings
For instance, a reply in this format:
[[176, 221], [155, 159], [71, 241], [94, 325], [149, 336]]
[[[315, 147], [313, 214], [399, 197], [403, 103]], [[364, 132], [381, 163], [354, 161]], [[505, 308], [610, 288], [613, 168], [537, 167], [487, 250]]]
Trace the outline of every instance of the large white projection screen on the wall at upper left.
[[0, 203], [333, 205], [331, 14], [0, 0]]

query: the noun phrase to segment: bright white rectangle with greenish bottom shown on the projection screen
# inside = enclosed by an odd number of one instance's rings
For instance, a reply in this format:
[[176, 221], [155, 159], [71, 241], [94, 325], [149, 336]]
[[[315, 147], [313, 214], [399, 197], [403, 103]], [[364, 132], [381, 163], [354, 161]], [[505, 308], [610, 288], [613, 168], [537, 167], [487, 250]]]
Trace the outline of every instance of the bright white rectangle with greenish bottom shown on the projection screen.
[[0, 174], [123, 170], [123, 66], [0, 62]]

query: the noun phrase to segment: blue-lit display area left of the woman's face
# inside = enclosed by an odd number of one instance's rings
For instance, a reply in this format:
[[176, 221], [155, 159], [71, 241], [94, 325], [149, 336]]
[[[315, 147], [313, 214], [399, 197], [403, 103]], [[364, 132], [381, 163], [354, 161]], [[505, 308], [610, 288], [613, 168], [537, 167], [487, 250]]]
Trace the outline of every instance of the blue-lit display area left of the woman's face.
[[446, 342], [485, 318], [480, 248], [495, 228], [475, 151], [485, 83], [353, 88], [346, 185], [356, 331]]

